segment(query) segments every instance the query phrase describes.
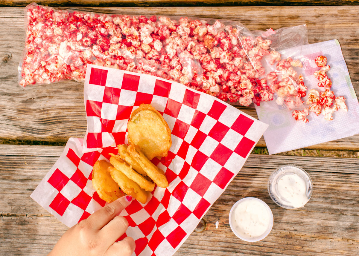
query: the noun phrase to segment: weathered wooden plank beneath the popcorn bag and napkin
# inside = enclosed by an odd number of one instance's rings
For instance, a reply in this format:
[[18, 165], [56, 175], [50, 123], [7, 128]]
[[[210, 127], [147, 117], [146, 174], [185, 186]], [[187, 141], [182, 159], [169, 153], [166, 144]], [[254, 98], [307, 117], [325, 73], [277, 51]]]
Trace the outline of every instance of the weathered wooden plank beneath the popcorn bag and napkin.
[[[261, 6], [261, 7], [82, 7], [85, 11], [118, 14], [198, 16], [237, 20], [251, 30], [277, 29], [307, 24], [309, 43], [338, 39], [359, 96], [359, 6]], [[0, 9], [0, 138], [67, 141], [83, 137], [86, 118], [83, 84], [63, 81], [21, 87], [17, 67], [24, 46], [23, 8]], [[333, 22], [335, 20], [335, 22]], [[11, 42], [11, 43], [9, 43]], [[238, 107], [257, 117], [254, 108]], [[308, 147], [325, 150], [359, 150], [359, 134]], [[258, 147], [265, 147], [262, 138]]]

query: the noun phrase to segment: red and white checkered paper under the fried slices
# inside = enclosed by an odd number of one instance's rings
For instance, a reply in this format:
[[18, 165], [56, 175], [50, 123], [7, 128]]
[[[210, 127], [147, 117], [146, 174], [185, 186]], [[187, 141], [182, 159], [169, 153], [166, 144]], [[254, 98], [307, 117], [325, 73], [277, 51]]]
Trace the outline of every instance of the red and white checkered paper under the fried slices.
[[267, 125], [205, 93], [159, 77], [88, 65], [84, 86], [87, 133], [70, 138], [31, 197], [71, 227], [106, 203], [92, 186], [92, 167], [127, 142], [127, 122], [141, 103], [154, 106], [172, 131], [167, 157], [153, 162], [169, 186], [121, 215], [137, 256], [170, 256], [242, 168]]

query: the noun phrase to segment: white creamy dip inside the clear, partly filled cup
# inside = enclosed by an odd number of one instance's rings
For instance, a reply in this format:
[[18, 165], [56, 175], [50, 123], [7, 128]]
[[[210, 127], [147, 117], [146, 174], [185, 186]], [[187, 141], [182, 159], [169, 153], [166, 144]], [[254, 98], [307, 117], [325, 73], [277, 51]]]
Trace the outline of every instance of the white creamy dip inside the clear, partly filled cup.
[[285, 205], [290, 207], [303, 207], [308, 202], [307, 185], [297, 174], [285, 174], [277, 180], [276, 192], [278, 199], [281, 199]]

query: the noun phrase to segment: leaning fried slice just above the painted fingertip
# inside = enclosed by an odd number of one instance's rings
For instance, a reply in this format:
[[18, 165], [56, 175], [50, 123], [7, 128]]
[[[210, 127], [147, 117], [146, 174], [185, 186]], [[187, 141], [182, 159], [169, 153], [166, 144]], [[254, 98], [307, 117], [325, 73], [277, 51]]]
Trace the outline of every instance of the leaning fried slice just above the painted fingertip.
[[145, 204], [148, 198], [148, 192], [141, 189], [140, 186], [133, 180], [130, 180], [123, 172], [117, 170], [115, 167], [108, 167], [113, 180], [115, 180], [127, 195], [133, 196], [140, 203]]

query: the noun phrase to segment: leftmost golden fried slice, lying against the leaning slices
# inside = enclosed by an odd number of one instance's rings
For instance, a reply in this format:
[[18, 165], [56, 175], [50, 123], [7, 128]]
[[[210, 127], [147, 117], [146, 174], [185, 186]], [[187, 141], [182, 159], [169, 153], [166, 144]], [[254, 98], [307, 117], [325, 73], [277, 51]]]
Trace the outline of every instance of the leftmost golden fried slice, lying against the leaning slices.
[[98, 196], [107, 203], [125, 195], [107, 170], [110, 166], [112, 166], [111, 163], [106, 160], [99, 160], [95, 162], [92, 171], [92, 185]]

